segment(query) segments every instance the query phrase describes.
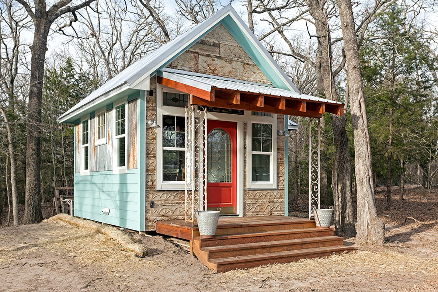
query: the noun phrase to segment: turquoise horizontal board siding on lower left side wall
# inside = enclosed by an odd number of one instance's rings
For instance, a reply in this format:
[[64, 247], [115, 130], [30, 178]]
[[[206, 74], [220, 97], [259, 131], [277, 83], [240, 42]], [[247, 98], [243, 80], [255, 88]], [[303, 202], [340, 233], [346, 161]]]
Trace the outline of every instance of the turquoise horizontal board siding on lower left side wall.
[[[74, 215], [127, 229], [142, 230], [137, 169], [128, 173], [90, 172], [74, 176]], [[109, 207], [109, 215], [102, 209]], [[143, 215], [144, 216], [144, 215]]]

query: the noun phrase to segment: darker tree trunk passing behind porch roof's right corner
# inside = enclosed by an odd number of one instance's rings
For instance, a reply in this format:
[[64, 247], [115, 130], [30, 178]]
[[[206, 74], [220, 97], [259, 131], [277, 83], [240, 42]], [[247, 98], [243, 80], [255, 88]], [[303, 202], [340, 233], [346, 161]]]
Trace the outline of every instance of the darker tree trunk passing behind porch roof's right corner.
[[[316, 34], [318, 35], [318, 58], [316, 63], [319, 68], [315, 68], [315, 70], [319, 71], [316, 74], [317, 88], [318, 86], [322, 87], [318, 90], [318, 93], [319, 91], [325, 92], [325, 98], [339, 101], [332, 70], [332, 45], [327, 15], [323, 4], [319, 3], [318, 0], [310, 0], [308, 3], [311, 7], [310, 14], [315, 20]], [[318, 79], [320, 79], [319, 83]], [[332, 165], [335, 232], [338, 236], [353, 237], [356, 235], [356, 229], [351, 202], [351, 160], [346, 132], [346, 114], [344, 116], [330, 115], [330, 117], [336, 148]]]

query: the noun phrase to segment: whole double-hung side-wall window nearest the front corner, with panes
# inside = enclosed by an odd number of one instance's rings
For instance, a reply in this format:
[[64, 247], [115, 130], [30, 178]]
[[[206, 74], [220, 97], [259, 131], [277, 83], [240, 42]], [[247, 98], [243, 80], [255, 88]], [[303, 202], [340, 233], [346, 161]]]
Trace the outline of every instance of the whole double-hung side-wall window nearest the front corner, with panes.
[[127, 172], [127, 99], [113, 107], [113, 173]]

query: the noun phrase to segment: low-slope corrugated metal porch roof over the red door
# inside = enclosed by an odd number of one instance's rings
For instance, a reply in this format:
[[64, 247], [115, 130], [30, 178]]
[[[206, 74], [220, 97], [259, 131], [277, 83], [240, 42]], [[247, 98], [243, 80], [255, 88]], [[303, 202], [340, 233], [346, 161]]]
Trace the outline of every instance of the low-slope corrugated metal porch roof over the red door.
[[199, 74], [183, 70], [163, 68], [158, 72], [158, 75], [173, 81], [203, 89], [205, 91], [211, 91], [211, 88], [215, 87], [251, 93], [260, 93], [264, 95], [276, 95], [293, 99], [304, 99], [307, 101], [324, 102], [329, 104], [342, 104], [341, 102], [335, 102], [329, 99], [322, 99], [312, 95], [275, 88], [268, 84], [246, 82], [237, 79]]

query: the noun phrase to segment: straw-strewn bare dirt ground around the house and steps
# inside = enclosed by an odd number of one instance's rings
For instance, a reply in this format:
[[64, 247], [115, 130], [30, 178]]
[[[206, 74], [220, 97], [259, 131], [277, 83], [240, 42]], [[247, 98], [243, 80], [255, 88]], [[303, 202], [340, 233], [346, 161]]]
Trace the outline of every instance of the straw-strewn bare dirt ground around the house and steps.
[[[410, 188], [385, 211], [384, 246], [247, 270], [213, 273], [162, 236], [135, 238], [151, 248], [139, 258], [94, 231], [63, 222], [0, 228], [0, 291], [438, 291], [438, 190]], [[427, 194], [427, 193], [426, 193]], [[415, 222], [412, 217], [417, 219]], [[408, 219], [406, 219], [408, 218]], [[406, 220], [406, 221], [405, 221]]]

